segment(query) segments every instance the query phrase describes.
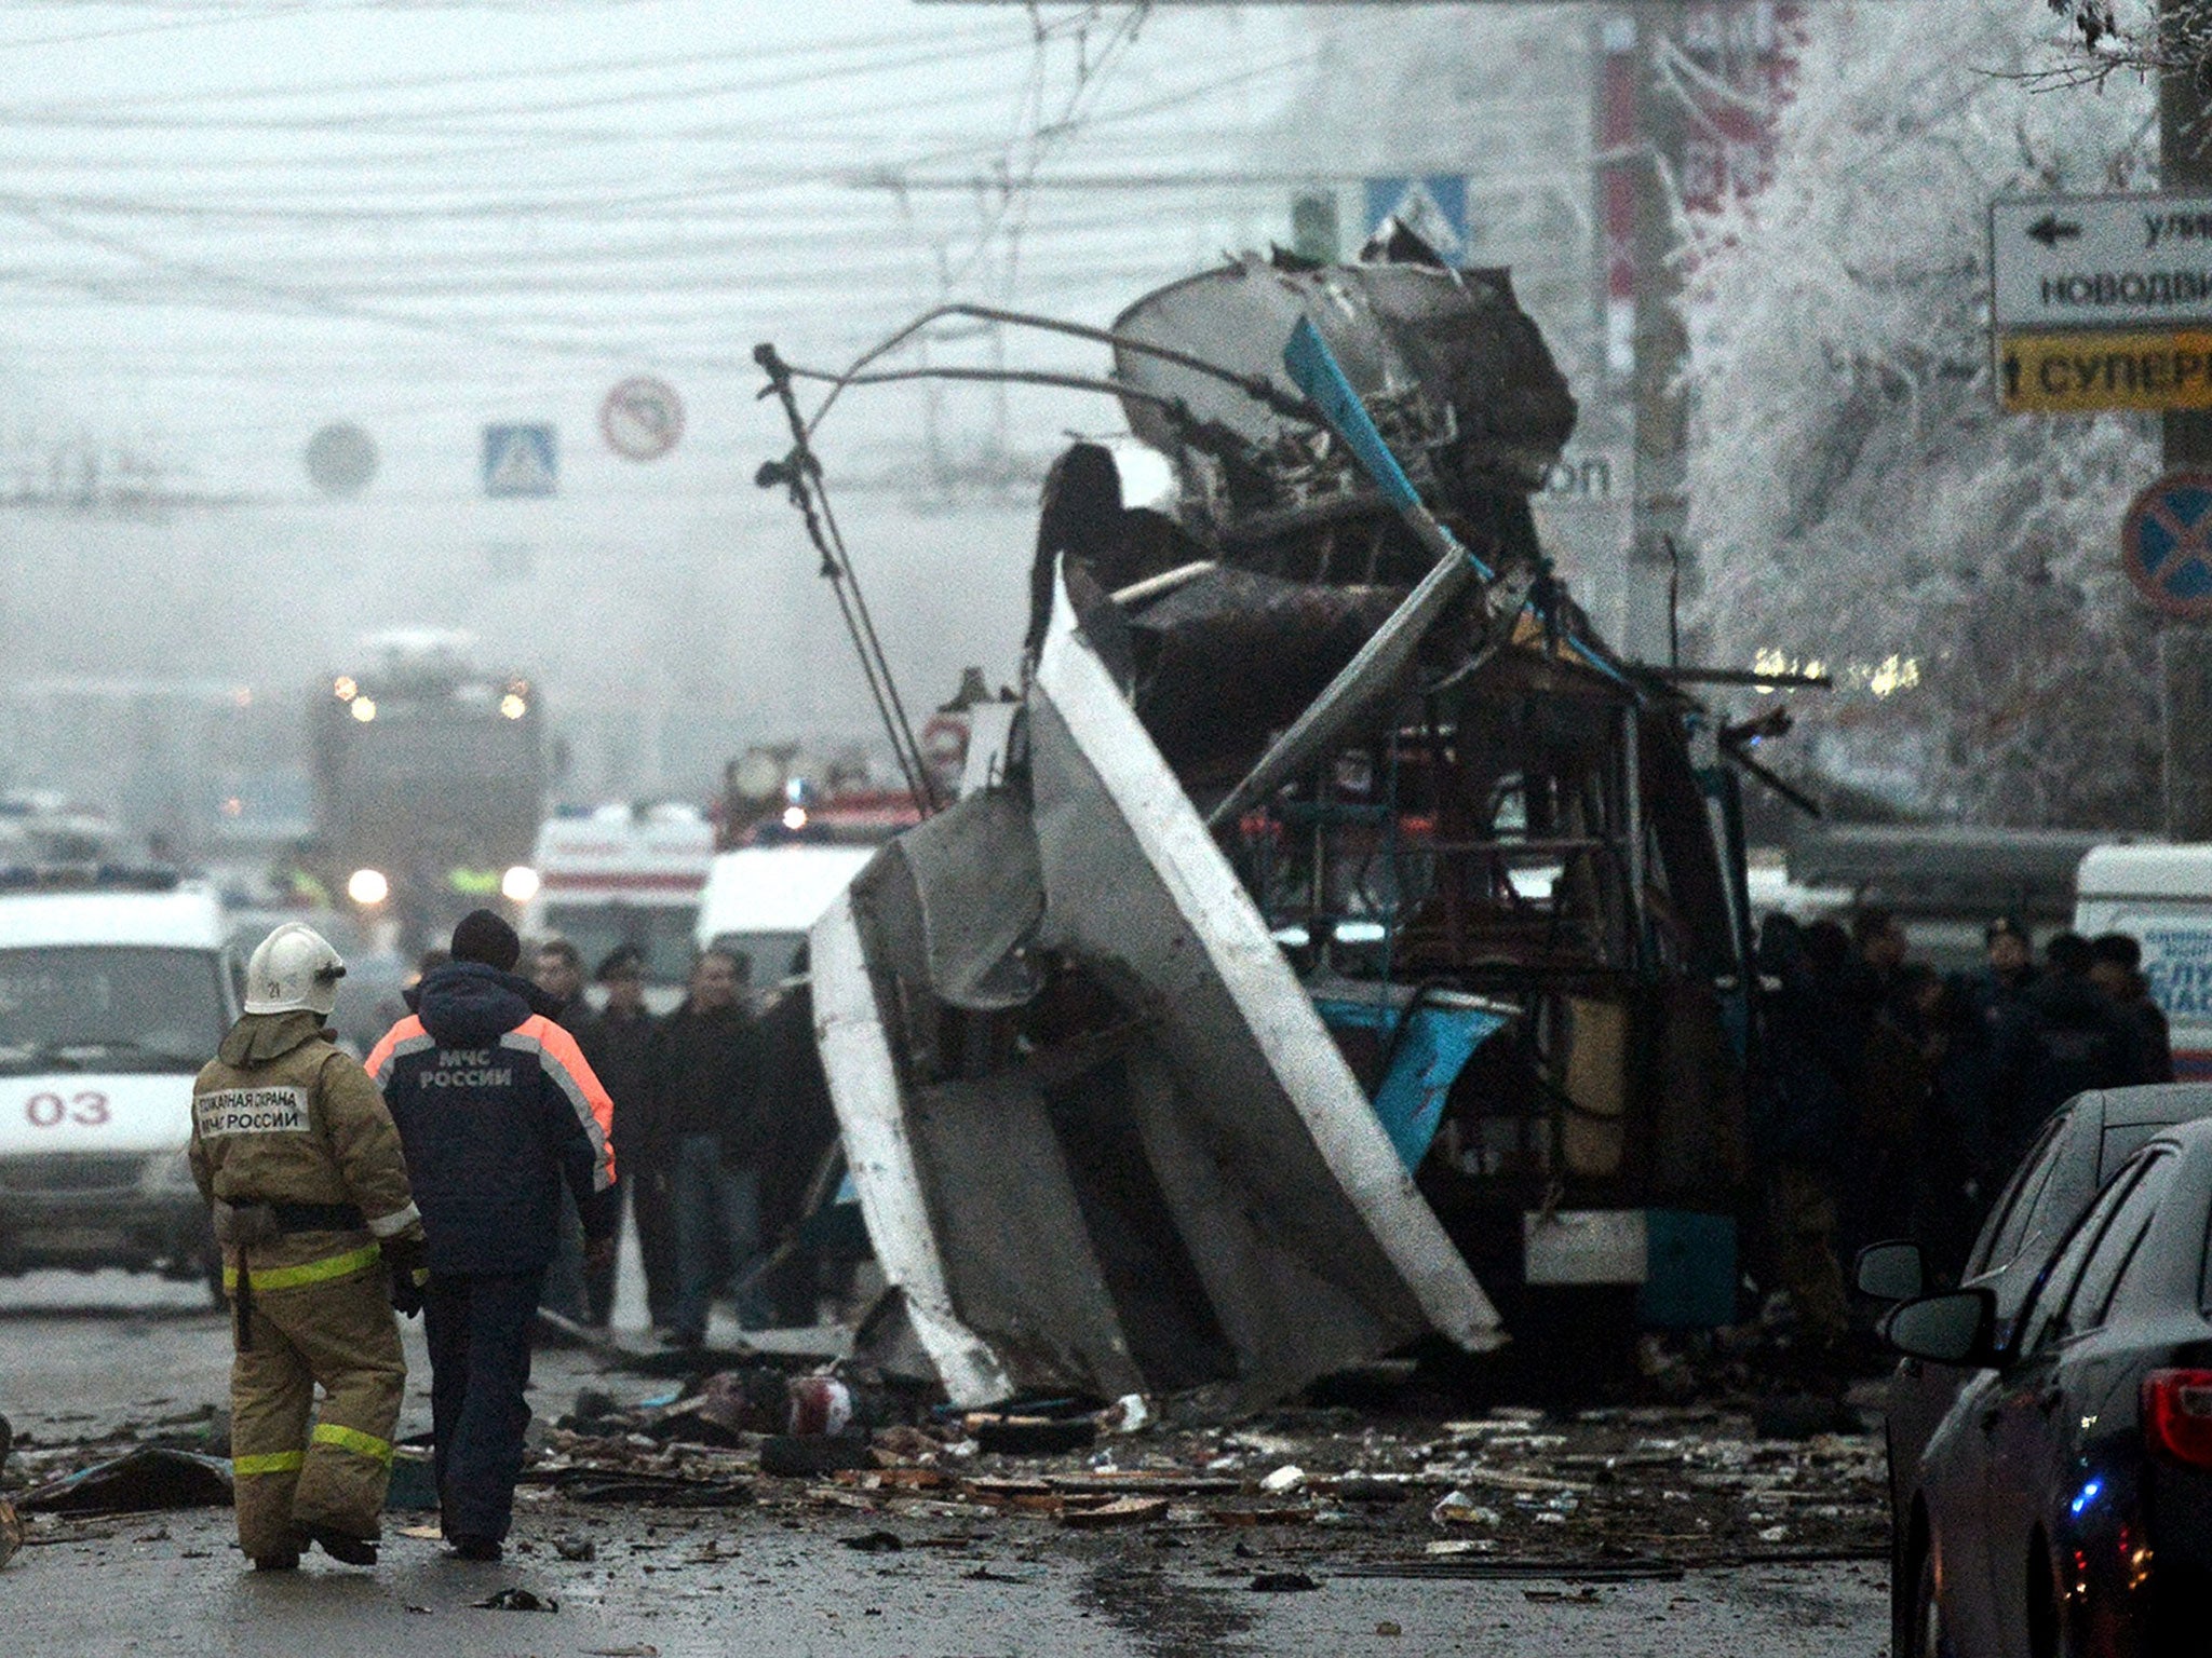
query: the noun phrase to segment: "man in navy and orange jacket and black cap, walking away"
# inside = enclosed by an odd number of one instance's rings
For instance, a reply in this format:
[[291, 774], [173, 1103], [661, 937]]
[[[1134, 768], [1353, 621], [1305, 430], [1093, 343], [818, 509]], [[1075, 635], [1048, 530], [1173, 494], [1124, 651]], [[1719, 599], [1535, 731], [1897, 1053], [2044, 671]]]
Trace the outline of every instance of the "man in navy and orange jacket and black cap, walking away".
[[575, 1037], [515, 975], [522, 942], [491, 911], [453, 928], [451, 964], [369, 1054], [422, 1209], [431, 1433], [445, 1539], [500, 1559], [531, 1408], [531, 1326], [562, 1225], [562, 1185], [586, 1258], [615, 1247], [613, 1103]]

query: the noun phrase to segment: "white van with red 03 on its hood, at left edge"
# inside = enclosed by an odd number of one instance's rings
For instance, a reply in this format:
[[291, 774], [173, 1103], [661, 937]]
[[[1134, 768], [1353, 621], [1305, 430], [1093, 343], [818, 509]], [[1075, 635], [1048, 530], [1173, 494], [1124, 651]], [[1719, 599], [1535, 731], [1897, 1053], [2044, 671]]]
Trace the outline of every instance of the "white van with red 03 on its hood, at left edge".
[[184, 1147], [239, 1008], [215, 893], [0, 869], [0, 1273], [219, 1273]]

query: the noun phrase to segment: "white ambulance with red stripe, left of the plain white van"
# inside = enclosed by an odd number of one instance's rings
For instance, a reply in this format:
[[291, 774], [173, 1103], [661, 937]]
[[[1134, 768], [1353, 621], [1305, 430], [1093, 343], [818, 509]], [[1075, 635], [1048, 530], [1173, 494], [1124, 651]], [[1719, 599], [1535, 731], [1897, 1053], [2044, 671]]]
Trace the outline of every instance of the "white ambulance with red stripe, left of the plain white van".
[[690, 975], [714, 827], [681, 802], [604, 805], [549, 818], [531, 853], [526, 940], [564, 937], [591, 975], [622, 944], [646, 959], [646, 1006], [666, 1012]]

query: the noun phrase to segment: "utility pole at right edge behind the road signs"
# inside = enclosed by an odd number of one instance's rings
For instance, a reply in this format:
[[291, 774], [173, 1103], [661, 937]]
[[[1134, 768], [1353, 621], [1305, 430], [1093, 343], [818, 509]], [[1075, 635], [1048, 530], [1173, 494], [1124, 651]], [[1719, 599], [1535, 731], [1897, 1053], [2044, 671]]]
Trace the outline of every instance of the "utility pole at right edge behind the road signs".
[[[2201, 35], [2208, 0], [2163, 0], [2166, 55], [2185, 57]], [[2212, 97], [2194, 62], [2159, 73], [2159, 188], [2212, 190]], [[2212, 411], [2170, 409], [2166, 471], [2212, 471]], [[2168, 621], [2159, 632], [2159, 712], [2166, 732], [2166, 833], [2212, 840], [2212, 628]]]

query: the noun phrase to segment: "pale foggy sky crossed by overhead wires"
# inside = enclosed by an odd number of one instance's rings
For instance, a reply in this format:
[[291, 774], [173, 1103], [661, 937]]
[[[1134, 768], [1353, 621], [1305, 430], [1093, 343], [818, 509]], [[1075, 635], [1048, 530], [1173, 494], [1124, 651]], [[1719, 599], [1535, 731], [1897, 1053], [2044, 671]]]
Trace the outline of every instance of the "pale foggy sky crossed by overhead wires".
[[[909, 0], [9, 7], [0, 482], [82, 440], [246, 504], [0, 511], [0, 679], [288, 694], [361, 632], [431, 623], [555, 710], [697, 710], [710, 749], [865, 730], [796, 517], [752, 484], [787, 442], [757, 340], [838, 365], [945, 296], [1106, 323], [1287, 239], [1298, 168], [1467, 168], [1491, 137], [1376, 102], [1444, 13], [1040, 15], [1042, 44], [1024, 9]], [[1325, 122], [1316, 84], [1343, 93]], [[1159, 175], [1194, 183], [1128, 188]], [[1031, 177], [1082, 188], [989, 186]], [[639, 371], [688, 409], [653, 464], [595, 429]], [[327, 420], [383, 455], [354, 502], [301, 466]], [[482, 497], [498, 420], [557, 424], [557, 500]], [[1066, 431], [1117, 427], [1064, 393], [841, 405], [823, 458], [911, 701], [964, 663], [1013, 672], [1031, 478]]]

